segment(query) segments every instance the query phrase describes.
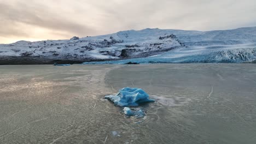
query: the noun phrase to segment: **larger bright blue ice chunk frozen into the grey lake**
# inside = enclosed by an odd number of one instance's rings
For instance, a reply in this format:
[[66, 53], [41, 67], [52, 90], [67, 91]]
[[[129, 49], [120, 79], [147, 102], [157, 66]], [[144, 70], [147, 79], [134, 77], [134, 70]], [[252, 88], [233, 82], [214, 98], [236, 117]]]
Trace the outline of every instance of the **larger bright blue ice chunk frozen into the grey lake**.
[[139, 106], [139, 104], [154, 102], [155, 100], [149, 99], [149, 95], [141, 88], [125, 87], [119, 90], [115, 95], [106, 95], [105, 99], [114, 102], [115, 105], [121, 107], [126, 106]]

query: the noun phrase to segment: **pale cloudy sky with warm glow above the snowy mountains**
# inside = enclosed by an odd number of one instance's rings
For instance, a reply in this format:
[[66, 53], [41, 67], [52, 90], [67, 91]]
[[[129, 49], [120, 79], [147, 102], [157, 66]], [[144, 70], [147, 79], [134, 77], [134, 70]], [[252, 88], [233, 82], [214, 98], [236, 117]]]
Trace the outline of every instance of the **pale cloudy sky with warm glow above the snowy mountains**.
[[256, 26], [255, 0], [0, 0], [0, 43], [128, 29]]

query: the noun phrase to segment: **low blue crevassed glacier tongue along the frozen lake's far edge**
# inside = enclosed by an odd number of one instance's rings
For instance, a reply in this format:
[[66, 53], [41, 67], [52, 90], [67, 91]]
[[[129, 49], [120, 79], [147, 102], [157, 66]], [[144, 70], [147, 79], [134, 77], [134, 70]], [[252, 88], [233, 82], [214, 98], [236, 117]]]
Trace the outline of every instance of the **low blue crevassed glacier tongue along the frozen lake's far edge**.
[[83, 64], [126, 64], [126, 63], [242, 63], [256, 59], [256, 44], [219, 47], [191, 46], [159, 55], [123, 59], [119, 61], [84, 62]]

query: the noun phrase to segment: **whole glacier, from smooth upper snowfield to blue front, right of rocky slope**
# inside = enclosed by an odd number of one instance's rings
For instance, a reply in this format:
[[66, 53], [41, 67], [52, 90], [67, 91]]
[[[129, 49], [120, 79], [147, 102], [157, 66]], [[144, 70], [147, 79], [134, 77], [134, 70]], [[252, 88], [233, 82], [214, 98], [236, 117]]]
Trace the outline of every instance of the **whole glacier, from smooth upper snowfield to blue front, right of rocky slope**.
[[[138, 31], [142, 35], [148, 30]], [[243, 63], [256, 59], [256, 27], [224, 31], [183, 31], [150, 29], [151, 35], [172, 33], [185, 46], [143, 58], [117, 61], [84, 62], [84, 64], [131, 63]], [[133, 32], [136, 33], [136, 32]]]

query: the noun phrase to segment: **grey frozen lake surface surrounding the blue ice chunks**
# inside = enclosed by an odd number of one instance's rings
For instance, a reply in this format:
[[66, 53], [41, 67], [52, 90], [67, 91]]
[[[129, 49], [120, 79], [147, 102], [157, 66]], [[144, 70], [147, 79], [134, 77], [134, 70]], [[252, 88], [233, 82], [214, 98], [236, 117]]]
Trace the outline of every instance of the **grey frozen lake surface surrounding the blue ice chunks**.
[[[0, 143], [256, 141], [254, 64], [9, 65], [0, 74]], [[102, 99], [123, 87], [157, 100], [142, 105], [144, 121]]]

